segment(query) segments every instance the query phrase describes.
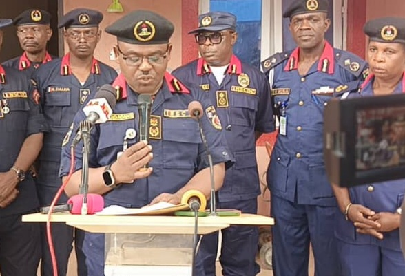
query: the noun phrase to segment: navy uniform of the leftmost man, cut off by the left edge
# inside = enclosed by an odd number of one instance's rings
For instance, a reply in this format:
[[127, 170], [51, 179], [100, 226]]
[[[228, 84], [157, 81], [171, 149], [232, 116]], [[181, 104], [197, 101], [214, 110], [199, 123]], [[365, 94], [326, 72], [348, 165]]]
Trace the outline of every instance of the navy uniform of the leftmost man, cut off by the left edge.
[[[14, 164], [25, 138], [47, 130], [39, 105], [32, 100], [28, 78], [0, 66], [0, 171]], [[8, 107], [8, 111], [4, 111]], [[21, 215], [38, 210], [39, 200], [32, 176], [17, 184], [17, 198], [0, 209], [0, 273], [3, 276], [34, 276], [41, 257], [39, 224], [21, 222]]]

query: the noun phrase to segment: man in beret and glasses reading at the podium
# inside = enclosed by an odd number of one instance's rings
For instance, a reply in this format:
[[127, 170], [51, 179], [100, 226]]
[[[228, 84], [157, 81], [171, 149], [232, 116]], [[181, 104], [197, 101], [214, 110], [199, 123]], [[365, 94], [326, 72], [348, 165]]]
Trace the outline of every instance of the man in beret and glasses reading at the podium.
[[[118, 89], [114, 118], [94, 127], [90, 134], [89, 192], [103, 195], [105, 205], [138, 208], [156, 202], [180, 203], [189, 189], [198, 189], [207, 198], [211, 190], [207, 152], [198, 123], [188, 112], [198, 100], [204, 110], [200, 122], [212, 154], [215, 187], [219, 189], [230, 160], [222, 127], [207, 94], [184, 85], [167, 72], [172, 51], [169, 42], [174, 25], [154, 12], [130, 12], [105, 31], [116, 36], [114, 53], [121, 74], [113, 83]], [[138, 98], [152, 97], [149, 141], [139, 141]], [[85, 119], [83, 111], [74, 118], [74, 131]], [[131, 136], [127, 135], [132, 134]], [[61, 176], [70, 169], [70, 142], [63, 147]], [[125, 146], [127, 142], [127, 147]], [[76, 147], [75, 172], [65, 188], [77, 194], [81, 182], [83, 153]], [[149, 163], [149, 168], [143, 166]], [[107, 176], [107, 181], [103, 176]], [[83, 249], [89, 276], [104, 275], [103, 234], [85, 233]], [[195, 276], [204, 276], [196, 268]]]

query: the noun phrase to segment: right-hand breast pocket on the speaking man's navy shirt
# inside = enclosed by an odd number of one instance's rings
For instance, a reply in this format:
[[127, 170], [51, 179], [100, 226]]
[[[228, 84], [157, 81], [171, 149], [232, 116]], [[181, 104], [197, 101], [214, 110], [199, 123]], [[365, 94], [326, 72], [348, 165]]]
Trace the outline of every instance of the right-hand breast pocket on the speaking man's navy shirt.
[[163, 167], [194, 169], [198, 167], [198, 146], [202, 142], [198, 123], [191, 118], [163, 119]]

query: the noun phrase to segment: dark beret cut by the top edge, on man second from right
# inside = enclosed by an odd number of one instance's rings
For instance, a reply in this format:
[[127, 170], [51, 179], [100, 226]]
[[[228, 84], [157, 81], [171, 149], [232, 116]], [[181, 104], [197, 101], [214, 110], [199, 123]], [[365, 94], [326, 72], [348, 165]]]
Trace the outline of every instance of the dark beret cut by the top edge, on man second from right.
[[311, 12], [328, 12], [328, 0], [294, 0], [282, 14], [290, 19], [296, 14], [306, 14]]

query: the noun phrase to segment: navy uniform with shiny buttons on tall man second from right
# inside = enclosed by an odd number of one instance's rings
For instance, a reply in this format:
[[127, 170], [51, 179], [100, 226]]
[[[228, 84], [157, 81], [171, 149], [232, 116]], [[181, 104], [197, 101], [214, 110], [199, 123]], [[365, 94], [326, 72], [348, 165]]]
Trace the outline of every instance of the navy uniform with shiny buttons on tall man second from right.
[[[262, 63], [280, 118], [267, 184], [271, 190], [273, 269], [278, 276], [308, 275], [309, 243], [315, 275], [338, 276], [334, 214], [337, 202], [323, 158], [323, 111], [334, 96], [359, 87], [366, 63], [349, 52], [324, 52], [307, 74], [298, 72], [299, 49]], [[287, 123], [283, 124], [283, 121]]]

